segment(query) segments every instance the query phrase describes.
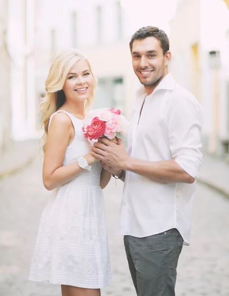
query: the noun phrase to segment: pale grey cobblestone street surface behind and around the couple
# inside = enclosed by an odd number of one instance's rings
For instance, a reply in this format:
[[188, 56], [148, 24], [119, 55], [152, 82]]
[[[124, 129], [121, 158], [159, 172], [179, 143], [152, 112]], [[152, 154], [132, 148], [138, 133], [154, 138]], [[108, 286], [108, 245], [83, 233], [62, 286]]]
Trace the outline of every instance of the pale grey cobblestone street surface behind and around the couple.
[[[122, 183], [104, 190], [113, 282], [102, 296], [134, 296], [123, 238], [115, 234]], [[41, 212], [50, 192], [41, 161], [0, 180], [0, 296], [60, 296], [60, 287], [27, 280]], [[229, 296], [229, 200], [197, 185], [190, 247], [178, 263], [177, 296]]]

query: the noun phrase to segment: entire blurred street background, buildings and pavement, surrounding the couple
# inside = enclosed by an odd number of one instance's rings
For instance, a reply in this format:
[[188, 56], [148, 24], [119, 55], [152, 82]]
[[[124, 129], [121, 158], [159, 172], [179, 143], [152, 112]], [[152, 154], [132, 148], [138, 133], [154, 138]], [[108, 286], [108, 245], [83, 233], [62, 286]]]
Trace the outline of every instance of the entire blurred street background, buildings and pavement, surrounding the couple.
[[[0, 296], [57, 296], [28, 281], [42, 210], [39, 101], [55, 56], [85, 53], [98, 76], [95, 107], [129, 118], [139, 82], [129, 41], [153, 25], [169, 36], [169, 71], [204, 112], [203, 165], [191, 246], [179, 263], [178, 296], [229, 296], [229, 0], [0, 0]], [[112, 284], [103, 296], [135, 295], [123, 238], [116, 235], [121, 182], [104, 189]]]

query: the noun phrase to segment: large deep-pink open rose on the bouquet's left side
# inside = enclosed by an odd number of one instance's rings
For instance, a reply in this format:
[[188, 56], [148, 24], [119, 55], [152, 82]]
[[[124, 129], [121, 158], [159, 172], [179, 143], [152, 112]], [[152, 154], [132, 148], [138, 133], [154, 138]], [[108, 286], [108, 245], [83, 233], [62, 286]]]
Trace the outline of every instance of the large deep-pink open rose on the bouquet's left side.
[[100, 120], [98, 117], [93, 118], [91, 125], [88, 125], [85, 128], [83, 127], [83, 132], [85, 137], [89, 140], [97, 140], [99, 137], [102, 137], [106, 129], [106, 123]]

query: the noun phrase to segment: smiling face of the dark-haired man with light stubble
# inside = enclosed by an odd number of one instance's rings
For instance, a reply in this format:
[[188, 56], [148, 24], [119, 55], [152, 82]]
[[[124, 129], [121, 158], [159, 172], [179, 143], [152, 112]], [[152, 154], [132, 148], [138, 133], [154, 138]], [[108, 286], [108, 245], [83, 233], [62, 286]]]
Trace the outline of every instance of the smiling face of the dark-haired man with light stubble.
[[163, 54], [161, 42], [157, 38], [134, 40], [131, 56], [133, 70], [146, 88], [155, 88], [164, 74], [167, 74], [165, 71], [169, 59], [166, 53]]

